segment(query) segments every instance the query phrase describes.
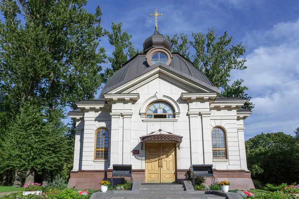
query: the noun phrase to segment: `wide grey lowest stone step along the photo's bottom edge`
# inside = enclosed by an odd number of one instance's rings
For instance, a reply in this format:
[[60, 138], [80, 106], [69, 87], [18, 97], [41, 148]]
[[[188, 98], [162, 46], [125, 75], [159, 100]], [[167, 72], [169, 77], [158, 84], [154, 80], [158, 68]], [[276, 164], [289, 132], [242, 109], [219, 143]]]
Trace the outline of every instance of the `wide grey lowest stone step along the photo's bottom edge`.
[[213, 194], [204, 194], [204, 192], [200, 191], [197, 191], [196, 194], [133, 194], [131, 192], [116, 193], [107, 191], [106, 193], [96, 192], [92, 195], [91, 199], [225, 199], [225, 197], [216, 196]]

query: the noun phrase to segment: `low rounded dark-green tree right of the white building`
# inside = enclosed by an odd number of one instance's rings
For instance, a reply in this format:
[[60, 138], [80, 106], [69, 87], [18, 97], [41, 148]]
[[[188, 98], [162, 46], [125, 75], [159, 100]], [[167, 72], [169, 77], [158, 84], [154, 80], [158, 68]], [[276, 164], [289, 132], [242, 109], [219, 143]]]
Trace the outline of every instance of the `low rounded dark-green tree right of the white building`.
[[262, 133], [245, 142], [248, 169], [263, 184], [294, 183], [299, 179], [299, 144], [283, 132]]

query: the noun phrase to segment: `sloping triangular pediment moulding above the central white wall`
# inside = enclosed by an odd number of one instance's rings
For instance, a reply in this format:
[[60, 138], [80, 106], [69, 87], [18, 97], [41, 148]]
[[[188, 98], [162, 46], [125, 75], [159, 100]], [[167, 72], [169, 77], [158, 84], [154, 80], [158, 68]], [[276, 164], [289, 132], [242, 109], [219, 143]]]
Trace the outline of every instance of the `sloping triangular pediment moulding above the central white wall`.
[[143, 85], [155, 80], [156, 78], [171, 82], [172, 84], [183, 88], [188, 93], [220, 93], [216, 87], [208, 85], [198, 79], [188, 76], [163, 63], [156, 63], [150, 66], [143, 73], [136, 75], [131, 80], [122, 81], [103, 91], [103, 94], [126, 94], [142, 87]]

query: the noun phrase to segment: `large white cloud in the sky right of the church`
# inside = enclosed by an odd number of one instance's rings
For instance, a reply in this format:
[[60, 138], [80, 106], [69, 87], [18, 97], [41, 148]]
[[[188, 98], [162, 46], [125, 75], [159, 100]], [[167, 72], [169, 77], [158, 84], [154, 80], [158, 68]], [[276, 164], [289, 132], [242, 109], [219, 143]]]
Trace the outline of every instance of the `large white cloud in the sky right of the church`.
[[[233, 79], [244, 79], [255, 103], [245, 120], [246, 137], [261, 132], [292, 134], [299, 126], [299, 20], [276, 24], [272, 29], [247, 34], [261, 42], [245, 58], [248, 69], [234, 72]], [[259, 38], [259, 36], [261, 38]], [[248, 40], [247, 40], [248, 41]]]

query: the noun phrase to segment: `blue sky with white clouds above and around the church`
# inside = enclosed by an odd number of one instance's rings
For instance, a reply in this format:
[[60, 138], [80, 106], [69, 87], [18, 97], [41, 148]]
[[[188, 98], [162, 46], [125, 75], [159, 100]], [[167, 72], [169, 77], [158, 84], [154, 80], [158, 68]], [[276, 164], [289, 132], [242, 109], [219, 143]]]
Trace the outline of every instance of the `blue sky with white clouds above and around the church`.
[[[112, 21], [122, 22], [139, 49], [154, 31], [154, 17], [149, 14], [155, 9], [163, 13], [158, 27], [164, 35], [183, 32], [191, 39], [192, 32], [206, 33], [212, 27], [220, 35], [228, 31], [234, 36], [233, 44], [243, 42], [246, 47], [243, 58], [248, 66], [233, 71], [231, 82], [244, 79], [255, 103], [253, 114], [245, 120], [245, 138], [278, 131], [294, 135], [299, 126], [297, 0], [89, 0], [86, 9], [94, 13], [98, 4], [102, 26], [110, 30]], [[111, 56], [107, 37], [100, 45]]]

